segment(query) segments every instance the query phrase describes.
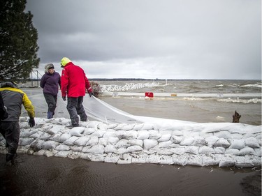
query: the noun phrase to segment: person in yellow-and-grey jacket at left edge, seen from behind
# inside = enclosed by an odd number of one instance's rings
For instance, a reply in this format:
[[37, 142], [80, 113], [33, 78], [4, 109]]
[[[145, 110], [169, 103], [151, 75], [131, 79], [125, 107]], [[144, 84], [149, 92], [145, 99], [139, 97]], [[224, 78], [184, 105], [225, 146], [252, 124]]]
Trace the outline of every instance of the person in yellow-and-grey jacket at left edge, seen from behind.
[[1, 120], [0, 133], [6, 139], [6, 146], [8, 147], [6, 164], [11, 163], [13, 165], [20, 139], [19, 118], [21, 115], [22, 105], [24, 105], [24, 109], [27, 110], [27, 114], [30, 117], [29, 126], [31, 128], [35, 126], [34, 106], [27, 97], [27, 94], [18, 89], [17, 84], [14, 82], [1, 82], [0, 92], [8, 113], [8, 117]]

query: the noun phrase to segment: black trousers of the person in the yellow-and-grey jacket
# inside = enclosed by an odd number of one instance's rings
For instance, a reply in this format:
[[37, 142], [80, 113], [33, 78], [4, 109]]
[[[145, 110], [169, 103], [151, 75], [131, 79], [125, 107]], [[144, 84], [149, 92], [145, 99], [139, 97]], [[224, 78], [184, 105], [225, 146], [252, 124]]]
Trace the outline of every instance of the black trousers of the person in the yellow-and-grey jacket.
[[8, 153], [15, 154], [20, 138], [19, 122], [0, 121], [0, 133], [6, 139]]

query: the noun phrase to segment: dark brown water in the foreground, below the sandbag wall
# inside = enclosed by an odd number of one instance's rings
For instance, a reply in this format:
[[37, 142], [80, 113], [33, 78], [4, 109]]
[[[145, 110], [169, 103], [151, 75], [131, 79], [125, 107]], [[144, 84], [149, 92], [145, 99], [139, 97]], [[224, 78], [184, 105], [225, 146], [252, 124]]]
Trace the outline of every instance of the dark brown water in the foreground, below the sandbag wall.
[[97, 163], [18, 154], [0, 195], [261, 195], [261, 168]]

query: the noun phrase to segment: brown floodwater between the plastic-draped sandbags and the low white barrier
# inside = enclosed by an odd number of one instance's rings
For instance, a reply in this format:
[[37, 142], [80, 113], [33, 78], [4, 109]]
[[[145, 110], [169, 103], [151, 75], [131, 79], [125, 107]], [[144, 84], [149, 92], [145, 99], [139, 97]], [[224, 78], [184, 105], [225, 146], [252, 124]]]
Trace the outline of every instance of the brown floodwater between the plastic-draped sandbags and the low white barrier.
[[138, 116], [150, 116], [163, 119], [194, 121], [197, 123], [232, 122], [237, 111], [240, 123], [261, 125], [261, 104], [222, 103], [213, 100], [184, 100], [183, 98], [145, 98], [108, 97], [101, 100], [119, 110]]

